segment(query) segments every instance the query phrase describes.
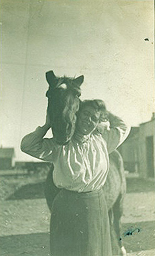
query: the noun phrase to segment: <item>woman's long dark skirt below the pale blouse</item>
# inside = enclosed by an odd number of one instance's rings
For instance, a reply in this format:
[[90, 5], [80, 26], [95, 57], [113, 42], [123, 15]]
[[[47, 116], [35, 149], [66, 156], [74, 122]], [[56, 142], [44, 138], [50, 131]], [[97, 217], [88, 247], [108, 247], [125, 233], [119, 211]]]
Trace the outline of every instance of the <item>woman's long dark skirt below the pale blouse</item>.
[[52, 256], [112, 256], [103, 190], [60, 190], [51, 209], [50, 246]]

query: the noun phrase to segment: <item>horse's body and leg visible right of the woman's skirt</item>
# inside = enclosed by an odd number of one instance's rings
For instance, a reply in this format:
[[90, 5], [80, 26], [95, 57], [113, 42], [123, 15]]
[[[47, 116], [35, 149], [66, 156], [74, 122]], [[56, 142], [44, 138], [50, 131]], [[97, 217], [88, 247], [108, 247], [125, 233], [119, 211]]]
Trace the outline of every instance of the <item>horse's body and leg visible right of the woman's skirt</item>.
[[108, 215], [113, 255], [126, 256], [126, 249], [121, 241], [121, 216], [123, 215], [123, 199], [126, 195], [126, 177], [123, 159], [118, 150], [109, 154], [109, 172], [103, 186]]

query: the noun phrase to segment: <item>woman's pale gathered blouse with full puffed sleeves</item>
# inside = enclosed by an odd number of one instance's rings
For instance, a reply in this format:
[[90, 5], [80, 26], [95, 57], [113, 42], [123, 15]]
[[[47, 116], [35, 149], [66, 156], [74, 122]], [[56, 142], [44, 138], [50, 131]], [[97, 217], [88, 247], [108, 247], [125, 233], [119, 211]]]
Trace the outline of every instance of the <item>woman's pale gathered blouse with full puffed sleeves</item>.
[[108, 175], [108, 153], [115, 150], [128, 136], [121, 128], [88, 135], [84, 142], [71, 139], [60, 146], [53, 138], [43, 138], [45, 131], [40, 126], [21, 141], [21, 150], [28, 155], [53, 162], [53, 182], [58, 188], [78, 192], [99, 190]]

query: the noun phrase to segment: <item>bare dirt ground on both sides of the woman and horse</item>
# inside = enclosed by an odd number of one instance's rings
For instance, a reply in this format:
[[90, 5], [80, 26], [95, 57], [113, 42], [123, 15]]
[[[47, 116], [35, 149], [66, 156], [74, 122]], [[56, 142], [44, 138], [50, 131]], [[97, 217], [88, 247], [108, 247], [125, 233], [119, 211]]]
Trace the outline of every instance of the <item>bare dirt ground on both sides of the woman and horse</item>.
[[[0, 255], [49, 255], [50, 214], [43, 193], [43, 175], [10, 178], [7, 181], [2, 179], [2, 183]], [[127, 185], [128, 193], [124, 202], [121, 230], [123, 244], [128, 255], [153, 256], [155, 255], [154, 182], [128, 179]], [[130, 230], [134, 230], [132, 235], [128, 235]]]

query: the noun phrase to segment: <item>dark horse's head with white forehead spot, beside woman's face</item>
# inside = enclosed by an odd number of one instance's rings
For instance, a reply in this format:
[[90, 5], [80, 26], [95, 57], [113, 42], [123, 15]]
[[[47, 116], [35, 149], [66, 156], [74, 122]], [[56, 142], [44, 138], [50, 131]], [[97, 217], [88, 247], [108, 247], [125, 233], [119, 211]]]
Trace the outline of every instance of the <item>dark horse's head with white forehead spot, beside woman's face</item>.
[[46, 72], [49, 83], [48, 111], [53, 137], [57, 144], [63, 145], [71, 139], [75, 130], [76, 112], [80, 105], [80, 86], [84, 76], [75, 78], [56, 77], [53, 71]]

